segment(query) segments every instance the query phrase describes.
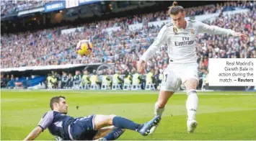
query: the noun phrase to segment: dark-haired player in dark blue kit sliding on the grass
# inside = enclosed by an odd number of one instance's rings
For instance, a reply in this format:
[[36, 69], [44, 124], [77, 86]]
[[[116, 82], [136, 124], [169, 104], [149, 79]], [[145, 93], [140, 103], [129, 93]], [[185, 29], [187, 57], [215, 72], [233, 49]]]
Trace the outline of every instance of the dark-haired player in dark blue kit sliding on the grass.
[[35, 140], [46, 128], [56, 137], [56, 140], [115, 140], [123, 134], [125, 129], [131, 129], [146, 136], [159, 122], [159, 117], [154, 117], [145, 124], [137, 124], [115, 115], [93, 114], [88, 117], [70, 117], [66, 115], [68, 104], [64, 96], [55, 96], [50, 99], [50, 109], [52, 111], [45, 113], [38, 126], [27, 135], [25, 140]]

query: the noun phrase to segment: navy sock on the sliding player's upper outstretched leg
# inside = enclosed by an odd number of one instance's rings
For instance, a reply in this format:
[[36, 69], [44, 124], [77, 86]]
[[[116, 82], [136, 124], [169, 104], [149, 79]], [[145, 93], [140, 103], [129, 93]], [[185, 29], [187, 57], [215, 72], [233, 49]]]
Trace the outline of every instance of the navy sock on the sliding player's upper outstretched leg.
[[141, 127], [141, 124], [137, 124], [129, 119], [118, 116], [113, 118], [112, 124], [120, 129], [131, 129], [134, 131]]

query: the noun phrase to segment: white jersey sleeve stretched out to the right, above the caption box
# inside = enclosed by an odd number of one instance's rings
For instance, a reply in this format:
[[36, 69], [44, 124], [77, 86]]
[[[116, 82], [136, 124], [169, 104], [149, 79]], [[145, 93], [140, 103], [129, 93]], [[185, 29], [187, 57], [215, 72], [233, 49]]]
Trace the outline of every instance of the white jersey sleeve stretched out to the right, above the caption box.
[[213, 25], [208, 25], [204, 24], [203, 22], [198, 22], [198, 30], [201, 33], [210, 33], [213, 35], [233, 35], [234, 30], [232, 29], [224, 29], [221, 27], [213, 26]]

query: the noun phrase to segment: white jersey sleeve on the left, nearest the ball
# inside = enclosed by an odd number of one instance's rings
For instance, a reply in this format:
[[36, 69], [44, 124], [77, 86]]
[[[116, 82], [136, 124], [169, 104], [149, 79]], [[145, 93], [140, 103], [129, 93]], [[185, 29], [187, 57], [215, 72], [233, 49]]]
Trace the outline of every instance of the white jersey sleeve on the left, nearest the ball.
[[145, 62], [149, 60], [156, 53], [156, 50], [158, 50], [158, 48], [161, 45], [164, 45], [165, 42], [167, 42], [166, 26], [162, 27], [162, 29], [160, 30], [159, 34], [156, 37], [156, 40], [154, 40], [153, 44], [148, 48], [148, 50], [146, 50], [144, 55], [141, 56], [141, 60], [144, 60]]

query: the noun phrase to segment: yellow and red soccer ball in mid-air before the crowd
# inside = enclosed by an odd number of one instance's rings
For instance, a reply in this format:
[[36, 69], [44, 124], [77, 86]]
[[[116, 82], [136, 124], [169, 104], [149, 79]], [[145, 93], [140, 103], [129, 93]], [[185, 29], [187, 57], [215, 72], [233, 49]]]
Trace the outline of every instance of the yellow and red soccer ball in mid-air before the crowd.
[[80, 40], [76, 45], [76, 51], [81, 56], [91, 54], [92, 48], [92, 42], [89, 40]]

